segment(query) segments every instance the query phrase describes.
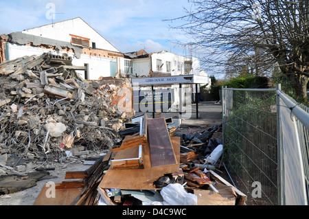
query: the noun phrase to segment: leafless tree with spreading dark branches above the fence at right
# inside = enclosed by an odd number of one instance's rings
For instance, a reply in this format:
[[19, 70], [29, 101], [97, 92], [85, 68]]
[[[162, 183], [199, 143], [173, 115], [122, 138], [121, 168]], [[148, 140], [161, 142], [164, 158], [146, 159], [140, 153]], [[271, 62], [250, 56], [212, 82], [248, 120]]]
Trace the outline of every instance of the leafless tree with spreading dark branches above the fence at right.
[[[166, 21], [183, 20], [182, 25], [172, 28], [190, 34], [194, 43], [212, 51], [203, 62], [227, 65], [232, 56], [234, 62], [247, 59], [251, 65], [264, 69], [278, 65], [293, 84], [295, 93], [306, 97], [308, 0], [189, 1], [192, 7], [185, 9], [184, 16]], [[227, 58], [218, 59], [222, 54]]]

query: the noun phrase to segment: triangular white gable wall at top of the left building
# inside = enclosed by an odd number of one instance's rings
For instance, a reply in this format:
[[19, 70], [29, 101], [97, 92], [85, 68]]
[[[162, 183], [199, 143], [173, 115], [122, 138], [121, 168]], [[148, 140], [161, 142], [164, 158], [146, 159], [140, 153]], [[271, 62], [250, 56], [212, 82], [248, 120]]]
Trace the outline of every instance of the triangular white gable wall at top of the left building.
[[23, 33], [52, 38], [58, 41], [65, 41], [67, 43], [71, 43], [71, 36], [69, 34], [73, 34], [76, 36], [89, 38], [90, 47], [92, 47], [92, 42], [94, 42], [98, 49], [119, 52], [116, 47], [106, 41], [103, 36], [93, 30], [93, 28], [84, 22], [80, 17], [67, 21], [60, 21], [54, 24], [43, 25], [41, 27], [34, 27], [32, 29], [24, 30]]

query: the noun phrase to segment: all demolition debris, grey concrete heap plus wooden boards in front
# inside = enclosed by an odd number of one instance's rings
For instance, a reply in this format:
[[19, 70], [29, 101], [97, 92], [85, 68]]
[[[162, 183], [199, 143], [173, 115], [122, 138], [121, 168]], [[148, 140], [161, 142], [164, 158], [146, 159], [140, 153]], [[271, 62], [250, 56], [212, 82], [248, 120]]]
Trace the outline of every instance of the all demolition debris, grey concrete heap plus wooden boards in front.
[[128, 80], [83, 80], [77, 69], [52, 54], [0, 65], [0, 195], [52, 178], [42, 163], [77, 158], [91, 167], [67, 172], [56, 198], [43, 187], [34, 205], [244, 205], [216, 173], [221, 126], [183, 133], [159, 114], [133, 117], [117, 104]]

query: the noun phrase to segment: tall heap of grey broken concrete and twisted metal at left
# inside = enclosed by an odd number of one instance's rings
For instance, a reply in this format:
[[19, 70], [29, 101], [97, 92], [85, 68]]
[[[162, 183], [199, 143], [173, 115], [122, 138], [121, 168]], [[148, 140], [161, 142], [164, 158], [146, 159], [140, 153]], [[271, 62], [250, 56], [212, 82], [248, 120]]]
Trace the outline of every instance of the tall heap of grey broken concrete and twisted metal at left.
[[96, 83], [94, 88], [78, 69], [70, 57], [52, 54], [0, 65], [0, 154], [60, 159], [72, 147], [113, 147], [129, 119], [111, 106], [121, 86]]

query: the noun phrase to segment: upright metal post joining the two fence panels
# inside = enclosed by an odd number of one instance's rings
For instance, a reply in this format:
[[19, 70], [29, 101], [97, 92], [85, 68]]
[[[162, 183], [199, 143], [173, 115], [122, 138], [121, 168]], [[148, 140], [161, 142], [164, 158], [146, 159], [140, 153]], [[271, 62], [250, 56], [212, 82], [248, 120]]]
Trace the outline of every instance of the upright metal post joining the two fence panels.
[[[276, 90], [281, 91], [281, 84], [276, 84]], [[284, 157], [282, 148], [282, 123], [280, 115], [280, 97], [276, 91], [277, 99], [277, 154], [278, 154], [278, 205], [284, 205]]]

